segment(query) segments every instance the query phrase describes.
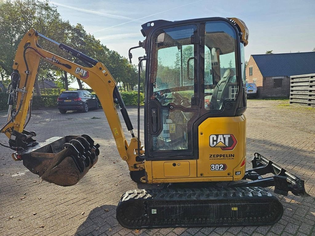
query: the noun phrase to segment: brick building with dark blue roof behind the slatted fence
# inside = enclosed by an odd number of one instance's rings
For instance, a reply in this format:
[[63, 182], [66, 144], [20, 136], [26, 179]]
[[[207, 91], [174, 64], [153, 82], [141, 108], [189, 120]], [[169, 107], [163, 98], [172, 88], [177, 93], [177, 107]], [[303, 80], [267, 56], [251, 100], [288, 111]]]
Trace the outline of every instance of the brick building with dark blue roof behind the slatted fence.
[[251, 55], [246, 81], [255, 83], [259, 98], [289, 97], [290, 76], [315, 73], [315, 52]]

